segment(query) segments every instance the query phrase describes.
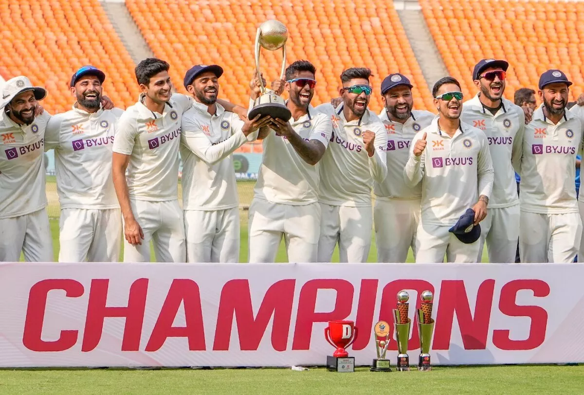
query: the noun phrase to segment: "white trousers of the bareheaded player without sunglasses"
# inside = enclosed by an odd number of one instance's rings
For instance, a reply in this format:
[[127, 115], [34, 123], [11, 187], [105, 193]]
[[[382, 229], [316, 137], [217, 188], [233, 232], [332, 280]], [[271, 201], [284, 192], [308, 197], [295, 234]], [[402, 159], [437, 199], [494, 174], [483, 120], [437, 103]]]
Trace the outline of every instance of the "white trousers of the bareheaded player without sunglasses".
[[142, 244], [124, 237], [124, 262], [150, 262], [150, 242], [157, 262], [185, 262], [185, 221], [178, 200], [130, 200], [134, 218], [144, 232]]

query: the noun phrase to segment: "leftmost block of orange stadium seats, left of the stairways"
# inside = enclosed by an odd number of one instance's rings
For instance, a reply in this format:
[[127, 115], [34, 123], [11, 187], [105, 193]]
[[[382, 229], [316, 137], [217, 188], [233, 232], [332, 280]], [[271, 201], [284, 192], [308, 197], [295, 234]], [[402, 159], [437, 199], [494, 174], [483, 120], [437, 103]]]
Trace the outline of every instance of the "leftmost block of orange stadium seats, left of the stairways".
[[98, 0], [0, 0], [0, 75], [26, 75], [48, 90], [50, 113], [71, 108], [71, 75], [92, 64], [106, 73], [104, 94], [117, 107], [134, 103], [134, 62]]

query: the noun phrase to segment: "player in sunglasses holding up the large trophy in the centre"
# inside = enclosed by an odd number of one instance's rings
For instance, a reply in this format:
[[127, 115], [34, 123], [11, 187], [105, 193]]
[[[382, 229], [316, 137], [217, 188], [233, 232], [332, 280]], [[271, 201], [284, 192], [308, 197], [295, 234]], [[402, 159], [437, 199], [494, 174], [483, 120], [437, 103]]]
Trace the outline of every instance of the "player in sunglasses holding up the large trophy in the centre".
[[[249, 262], [274, 262], [280, 241], [289, 262], [316, 262], [320, 235], [321, 208], [318, 205], [319, 161], [331, 138], [331, 120], [315, 110], [316, 68], [300, 60], [286, 68], [283, 85], [292, 113], [288, 122], [272, 119], [268, 130], [259, 131], [263, 139], [263, 159], [258, 182], [249, 207]], [[259, 78], [251, 86], [252, 99], [259, 96]], [[322, 180], [321, 180], [322, 182]]]

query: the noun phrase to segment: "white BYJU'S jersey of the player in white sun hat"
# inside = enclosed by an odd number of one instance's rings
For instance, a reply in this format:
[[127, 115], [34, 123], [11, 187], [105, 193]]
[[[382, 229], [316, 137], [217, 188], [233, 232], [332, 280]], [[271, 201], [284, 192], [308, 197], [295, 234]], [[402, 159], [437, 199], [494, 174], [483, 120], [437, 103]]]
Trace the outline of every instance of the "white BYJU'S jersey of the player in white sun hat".
[[2, 111], [0, 219], [30, 214], [47, 205], [43, 154], [44, 133], [50, 117], [44, 111], [32, 124], [21, 126]]

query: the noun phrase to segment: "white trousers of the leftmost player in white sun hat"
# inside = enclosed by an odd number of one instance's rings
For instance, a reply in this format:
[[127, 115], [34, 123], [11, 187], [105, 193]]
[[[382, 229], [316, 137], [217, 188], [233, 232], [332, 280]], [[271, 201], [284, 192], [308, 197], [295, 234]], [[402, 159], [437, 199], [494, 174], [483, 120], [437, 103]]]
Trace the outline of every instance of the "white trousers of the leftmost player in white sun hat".
[[53, 238], [46, 209], [0, 219], [0, 262], [53, 262]]

